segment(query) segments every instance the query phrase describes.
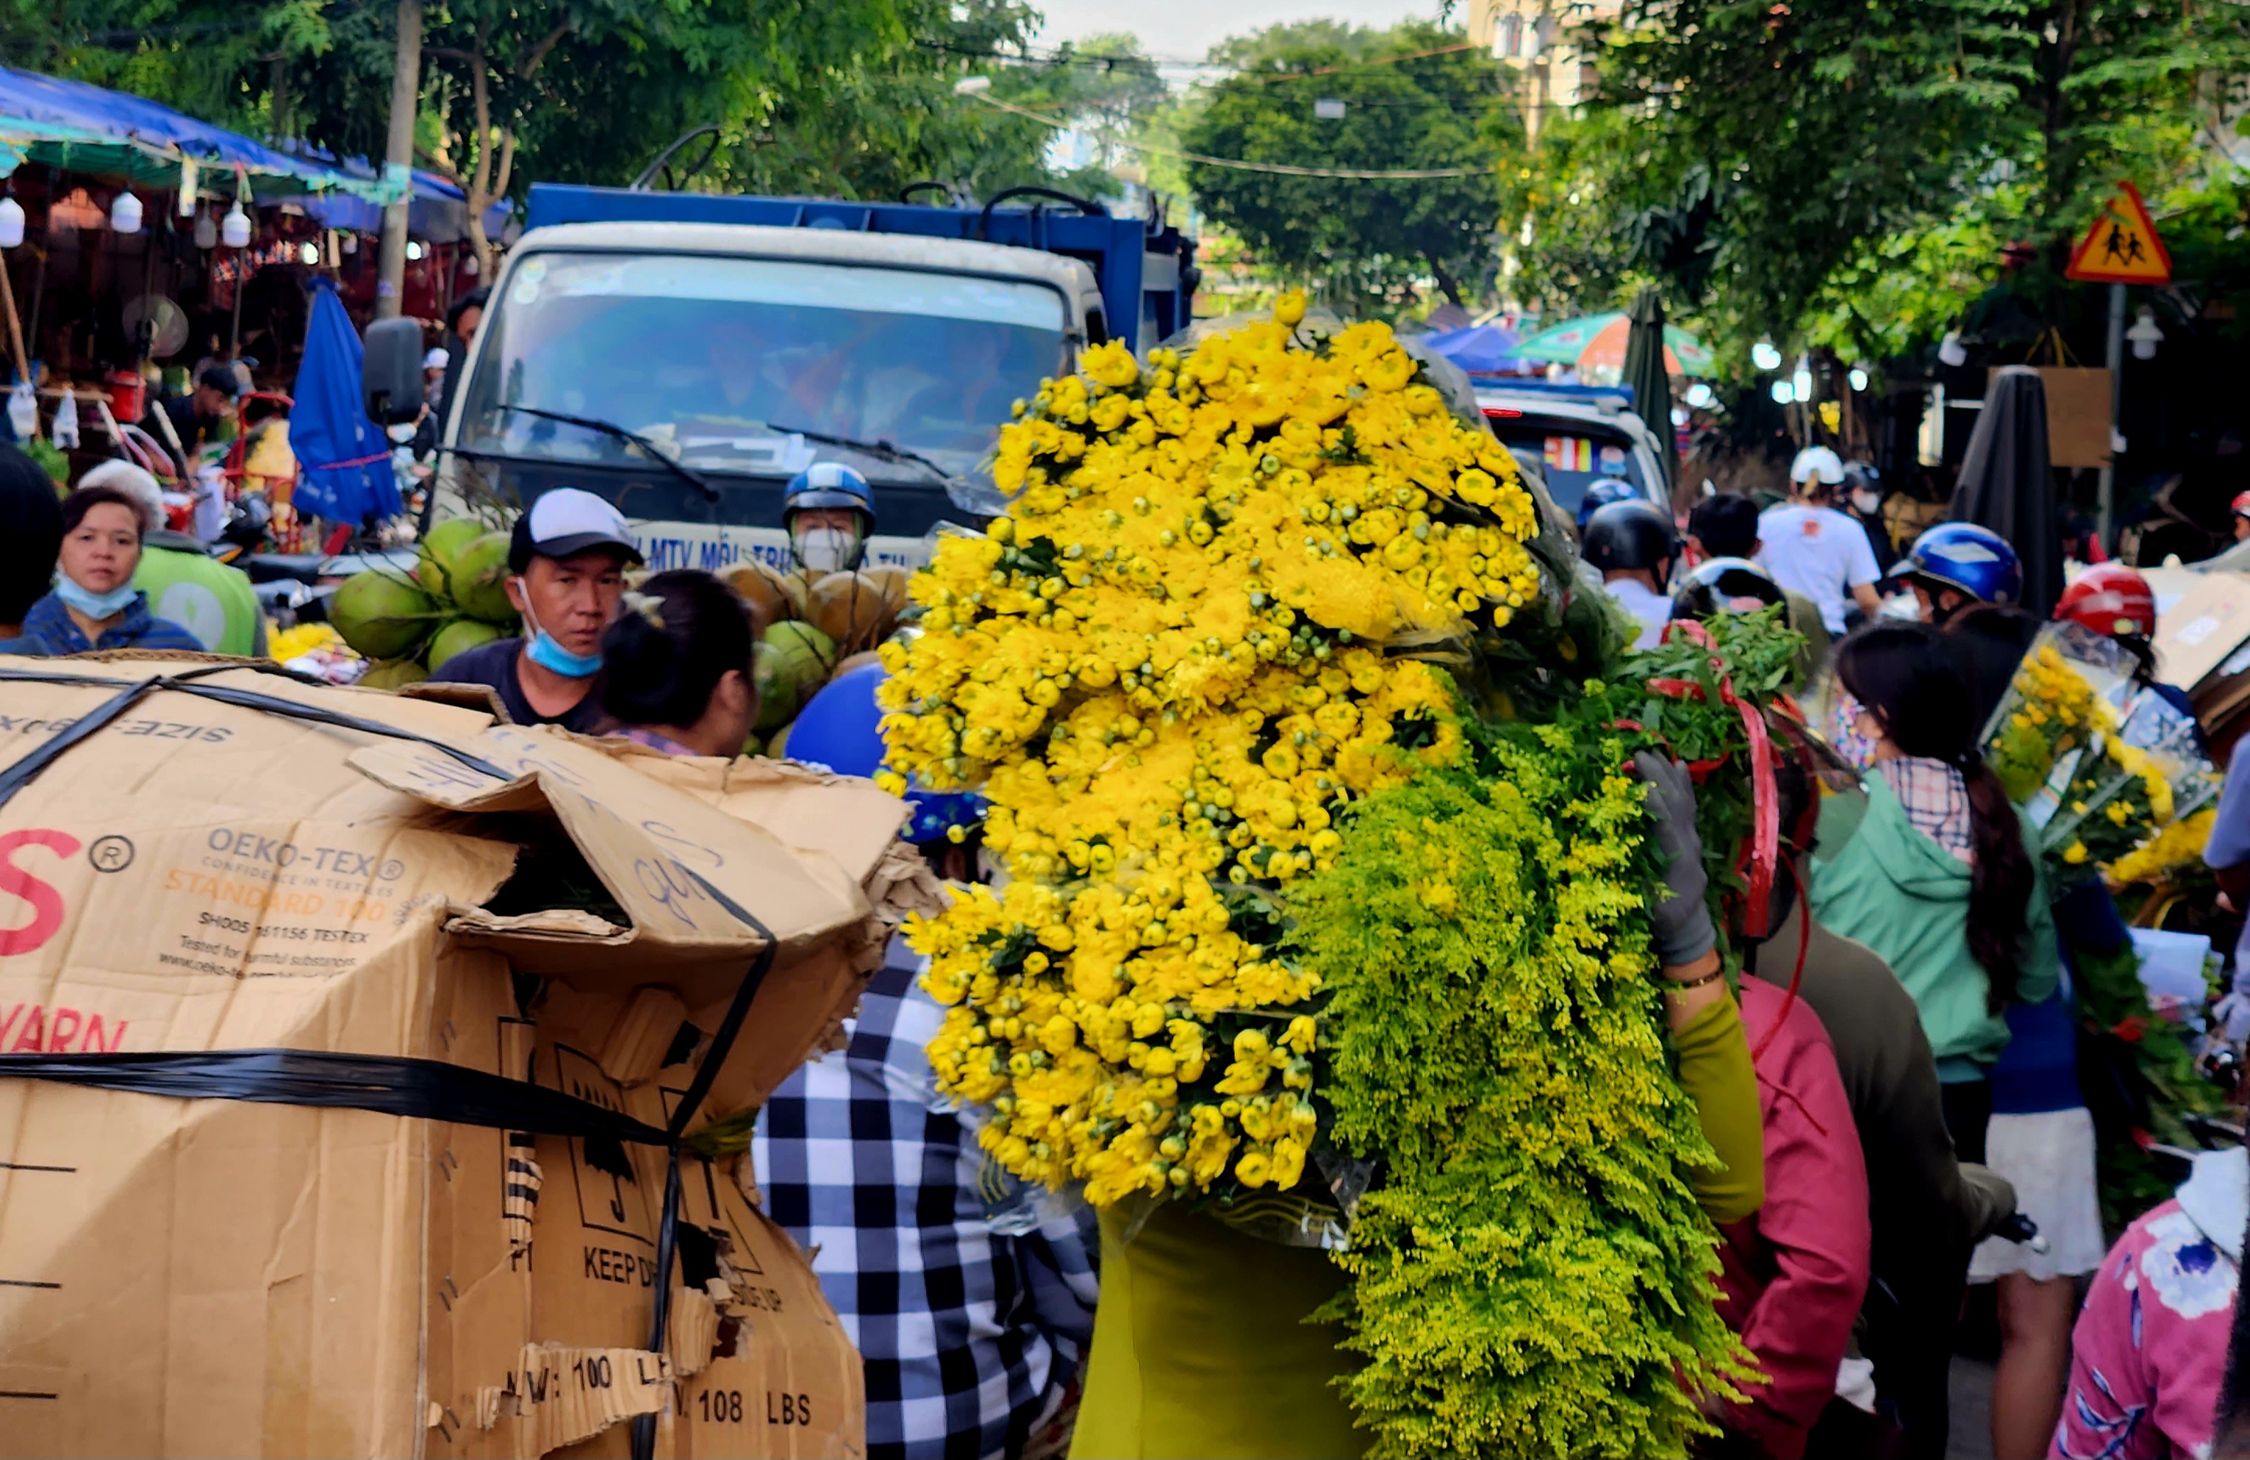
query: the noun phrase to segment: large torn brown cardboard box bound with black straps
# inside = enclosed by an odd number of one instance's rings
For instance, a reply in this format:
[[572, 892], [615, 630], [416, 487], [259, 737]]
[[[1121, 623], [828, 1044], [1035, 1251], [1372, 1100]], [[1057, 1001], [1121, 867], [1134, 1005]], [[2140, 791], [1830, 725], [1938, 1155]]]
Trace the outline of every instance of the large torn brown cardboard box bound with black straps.
[[765, 956], [686, 1129], [752, 1111], [896, 920], [902, 805], [790, 787], [792, 846], [482, 711], [126, 697], [187, 668], [0, 661], [47, 677], [0, 677], [0, 1451], [860, 1453], [857, 1357], [729, 1161], [677, 1161], [659, 1273], [673, 1154], [574, 1132], [664, 1127]]

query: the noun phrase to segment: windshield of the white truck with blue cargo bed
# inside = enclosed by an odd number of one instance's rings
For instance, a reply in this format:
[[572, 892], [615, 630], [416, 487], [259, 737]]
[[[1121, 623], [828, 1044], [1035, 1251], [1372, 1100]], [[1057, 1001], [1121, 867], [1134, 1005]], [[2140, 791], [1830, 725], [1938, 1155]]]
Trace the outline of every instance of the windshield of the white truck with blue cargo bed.
[[1062, 362], [1062, 295], [965, 274], [716, 259], [538, 254], [484, 326], [457, 443], [547, 461], [639, 463], [612, 434], [511, 405], [610, 421], [713, 472], [848, 461], [929, 481], [799, 432], [886, 441], [970, 475], [1019, 396]]

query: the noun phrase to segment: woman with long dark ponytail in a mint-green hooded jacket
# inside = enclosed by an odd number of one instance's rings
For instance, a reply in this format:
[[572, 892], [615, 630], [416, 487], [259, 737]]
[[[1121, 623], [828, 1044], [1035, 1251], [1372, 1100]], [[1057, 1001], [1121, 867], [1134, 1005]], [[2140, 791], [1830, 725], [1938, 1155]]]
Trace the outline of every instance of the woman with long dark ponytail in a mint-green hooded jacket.
[[1989, 1075], [2007, 1046], [2000, 1015], [2056, 983], [2036, 837], [1978, 754], [1976, 695], [1944, 634], [1863, 628], [1836, 650], [1836, 677], [1861, 704], [1856, 731], [1874, 756], [1858, 823], [1822, 819], [1814, 911], [1881, 954], [1915, 997], [1953, 1147], [1982, 1161]]

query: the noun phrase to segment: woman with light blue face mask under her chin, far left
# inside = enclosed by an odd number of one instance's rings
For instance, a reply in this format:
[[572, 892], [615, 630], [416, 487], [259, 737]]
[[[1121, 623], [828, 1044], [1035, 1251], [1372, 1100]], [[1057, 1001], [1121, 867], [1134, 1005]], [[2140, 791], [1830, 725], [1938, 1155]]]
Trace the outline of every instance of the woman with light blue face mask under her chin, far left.
[[90, 486], [63, 502], [63, 553], [54, 592], [32, 605], [14, 655], [86, 655], [106, 648], [184, 648], [202, 641], [171, 619], [148, 612], [148, 594], [133, 587], [142, 547], [140, 504], [108, 486]]

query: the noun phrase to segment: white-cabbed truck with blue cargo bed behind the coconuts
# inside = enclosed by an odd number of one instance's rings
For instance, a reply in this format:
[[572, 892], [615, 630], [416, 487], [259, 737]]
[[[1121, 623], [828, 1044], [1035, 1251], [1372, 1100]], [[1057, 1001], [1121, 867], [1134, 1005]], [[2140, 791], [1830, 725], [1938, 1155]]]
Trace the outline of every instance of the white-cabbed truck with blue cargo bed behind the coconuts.
[[[1091, 205], [1082, 205], [1091, 207]], [[788, 562], [814, 461], [875, 495], [868, 562], [974, 515], [999, 425], [1109, 337], [1186, 322], [1192, 243], [1102, 211], [533, 187], [443, 423], [436, 515], [594, 490], [650, 567]]]

